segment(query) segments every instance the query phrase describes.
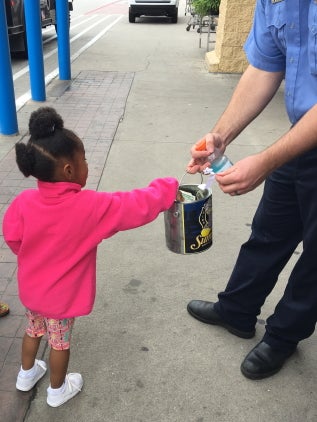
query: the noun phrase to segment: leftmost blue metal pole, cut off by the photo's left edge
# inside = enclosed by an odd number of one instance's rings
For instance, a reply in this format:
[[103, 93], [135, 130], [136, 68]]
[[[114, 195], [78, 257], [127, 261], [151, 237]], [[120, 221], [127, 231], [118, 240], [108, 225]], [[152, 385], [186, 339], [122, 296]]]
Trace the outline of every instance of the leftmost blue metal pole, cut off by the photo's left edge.
[[4, 0], [0, 0], [0, 55], [0, 133], [14, 135], [18, 121]]

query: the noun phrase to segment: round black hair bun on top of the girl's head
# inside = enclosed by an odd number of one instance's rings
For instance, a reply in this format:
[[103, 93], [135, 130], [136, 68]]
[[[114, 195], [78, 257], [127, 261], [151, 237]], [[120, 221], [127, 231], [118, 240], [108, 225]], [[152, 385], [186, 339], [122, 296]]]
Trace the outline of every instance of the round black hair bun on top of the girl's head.
[[29, 131], [33, 139], [46, 138], [56, 129], [63, 129], [62, 117], [52, 107], [40, 107], [33, 111], [29, 121]]

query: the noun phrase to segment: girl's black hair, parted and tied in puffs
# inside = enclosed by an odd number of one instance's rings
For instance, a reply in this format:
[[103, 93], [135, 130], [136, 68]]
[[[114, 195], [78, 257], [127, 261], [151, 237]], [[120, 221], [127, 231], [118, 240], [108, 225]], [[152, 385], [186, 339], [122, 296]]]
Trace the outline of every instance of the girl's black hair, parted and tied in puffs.
[[78, 136], [64, 128], [62, 117], [52, 107], [40, 107], [31, 114], [29, 131], [28, 142], [15, 145], [16, 162], [25, 177], [54, 181], [58, 161], [72, 160], [83, 147]]

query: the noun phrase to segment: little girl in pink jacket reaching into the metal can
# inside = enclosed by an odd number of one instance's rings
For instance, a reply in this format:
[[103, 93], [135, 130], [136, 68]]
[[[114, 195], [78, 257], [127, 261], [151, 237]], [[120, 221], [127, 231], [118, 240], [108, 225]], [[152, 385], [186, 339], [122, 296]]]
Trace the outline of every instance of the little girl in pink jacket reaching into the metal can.
[[[64, 128], [53, 108], [29, 121], [27, 144], [17, 143], [16, 161], [37, 189], [20, 193], [3, 219], [5, 241], [18, 259], [19, 296], [27, 308], [22, 365], [16, 388], [29, 391], [44, 376], [36, 355], [46, 333], [50, 345], [47, 403], [57, 407], [83, 386], [67, 374], [74, 318], [91, 312], [96, 291], [97, 246], [115, 233], [153, 221], [178, 189], [174, 178], [156, 179], [130, 192], [82, 190], [88, 176], [82, 141]], [[128, 210], [128, 211], [127, 211]]]

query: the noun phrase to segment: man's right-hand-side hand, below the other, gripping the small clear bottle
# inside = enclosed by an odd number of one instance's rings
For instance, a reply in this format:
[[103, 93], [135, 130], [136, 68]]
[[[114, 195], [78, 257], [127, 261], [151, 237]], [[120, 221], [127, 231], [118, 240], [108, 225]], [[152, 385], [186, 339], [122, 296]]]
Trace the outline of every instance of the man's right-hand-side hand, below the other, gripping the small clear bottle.
[[258, 187], [270, 169], [262, 153], [246, 157], [228, 170], [218, 173], [216, 180], [220, 189], [229, 195], [243, 195]]

